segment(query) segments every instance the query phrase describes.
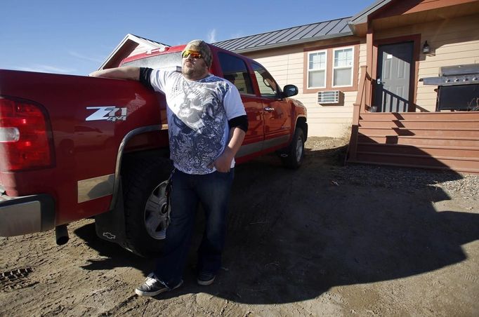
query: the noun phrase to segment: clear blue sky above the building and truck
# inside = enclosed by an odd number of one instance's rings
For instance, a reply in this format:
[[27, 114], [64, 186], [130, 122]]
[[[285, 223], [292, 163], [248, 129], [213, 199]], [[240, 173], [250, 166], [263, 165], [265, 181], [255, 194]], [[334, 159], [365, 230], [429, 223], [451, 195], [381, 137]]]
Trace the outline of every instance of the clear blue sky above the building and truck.
[[345, 18], [374, 0], [1, 0], [0, 69], [86, 75], [131, 33], [167, 45]]

